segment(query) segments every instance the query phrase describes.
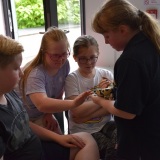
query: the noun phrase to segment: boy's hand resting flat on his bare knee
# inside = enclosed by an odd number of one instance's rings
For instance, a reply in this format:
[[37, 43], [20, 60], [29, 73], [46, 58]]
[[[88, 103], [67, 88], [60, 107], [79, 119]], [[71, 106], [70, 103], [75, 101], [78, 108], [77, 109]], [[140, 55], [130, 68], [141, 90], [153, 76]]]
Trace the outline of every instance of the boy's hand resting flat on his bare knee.
[[83, 148], [85, 146], [85, 143], [83, 140], [74, 134], [68, 134], [68, 135], [61, 135], [61, 138], [59, 138], [58, 141], [59, 144], [65, 147], [78, 147], [78, 148]]

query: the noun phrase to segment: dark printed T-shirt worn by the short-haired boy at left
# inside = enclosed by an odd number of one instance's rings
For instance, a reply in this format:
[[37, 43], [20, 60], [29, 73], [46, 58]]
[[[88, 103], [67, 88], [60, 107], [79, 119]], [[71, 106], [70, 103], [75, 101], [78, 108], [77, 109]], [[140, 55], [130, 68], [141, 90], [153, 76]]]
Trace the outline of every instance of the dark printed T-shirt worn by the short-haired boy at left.
[[40, 140], [29, 128], [29, 118], [14, 93], [5, 94], [7, 105], [0, 104], [0, 157], [5, 160], [40, 160]]

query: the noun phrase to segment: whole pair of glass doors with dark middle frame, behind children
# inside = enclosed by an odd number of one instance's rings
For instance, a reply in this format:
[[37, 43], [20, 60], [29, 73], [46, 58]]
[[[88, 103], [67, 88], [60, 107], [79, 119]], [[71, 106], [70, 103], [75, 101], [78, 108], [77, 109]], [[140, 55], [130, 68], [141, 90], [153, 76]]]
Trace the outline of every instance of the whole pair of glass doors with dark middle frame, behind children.
[[[57, 26], [67, 32], [66, 35], [71, 47], [71, 56], [69, 57], [71, 71], [77, 69], [77, 64], [72, 56], [72, 48], [75, 39], [81, 35], [82, 31], [82, 0], [8, 1], [11, 4], [13, 17], [15, 35], [13, 38], [18, 40], [25, 50], [22, 67], [37, 55], [45, 30], [50, 26]], [[8, 18], [10, 17], [8, 16]], [[8, 31], [10, 31], [9, 27]], [[67, 126], [66, 120], [65, 126]]]

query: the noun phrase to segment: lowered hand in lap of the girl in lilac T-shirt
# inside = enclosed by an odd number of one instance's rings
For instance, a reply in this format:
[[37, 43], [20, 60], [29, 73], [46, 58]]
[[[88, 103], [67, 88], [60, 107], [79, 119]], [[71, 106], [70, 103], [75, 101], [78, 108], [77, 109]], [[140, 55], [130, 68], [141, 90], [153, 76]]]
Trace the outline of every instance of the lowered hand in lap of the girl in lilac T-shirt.
[[43, 116], [43, 124], [46, 129], [62, 134], [59, 123], [52, 113], [46, 113]]

